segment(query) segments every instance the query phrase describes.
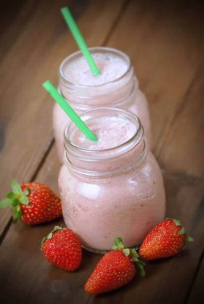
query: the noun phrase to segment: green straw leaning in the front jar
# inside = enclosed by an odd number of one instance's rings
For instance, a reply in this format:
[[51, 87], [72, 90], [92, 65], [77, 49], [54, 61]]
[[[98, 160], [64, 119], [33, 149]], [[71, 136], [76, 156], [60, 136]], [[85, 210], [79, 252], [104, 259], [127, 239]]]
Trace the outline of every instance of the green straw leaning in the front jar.
[[43, 87], [46, 91], [53, 97], [53, 99], [61, 106], [65, 113], [69, 116], [72, 122], [78, 127], [78, 129], [90, 140], [98, 141], [96, 136], [92, 131], [85, 125], [85, 123], [80, 119], [76, 112], [70, 107], [66, 100], [60, 95], [60, 93], [55, 89], [49, 80], [47, 80]]

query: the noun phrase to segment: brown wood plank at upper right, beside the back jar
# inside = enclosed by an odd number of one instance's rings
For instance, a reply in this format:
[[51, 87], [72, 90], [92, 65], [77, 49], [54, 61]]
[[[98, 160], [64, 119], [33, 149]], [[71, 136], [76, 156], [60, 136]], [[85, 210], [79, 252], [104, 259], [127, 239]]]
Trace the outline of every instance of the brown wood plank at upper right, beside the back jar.
[[150, 106], [156, 156], [202, 58], [203, 10], [197, 14], [197, 5], [132, 1], [108, 42], [134, 64]]

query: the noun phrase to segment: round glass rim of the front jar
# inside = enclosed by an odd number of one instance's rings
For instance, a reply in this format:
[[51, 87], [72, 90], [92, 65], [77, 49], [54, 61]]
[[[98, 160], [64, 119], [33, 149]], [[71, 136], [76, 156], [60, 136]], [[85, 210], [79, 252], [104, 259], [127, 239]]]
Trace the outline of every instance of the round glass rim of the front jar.
[[[122, 116], [123, 115], [124, 118], [131, 119], [137, 125], [137, 129], [136, 129], [135, 133], [127, 141], [125, 141], [124, 143], [119, 144], [115, 147], [111, 147], [111, 148], [104, 149], [104, 150], [90, 150], [90, 149], [85, 149], [85, 148], [82, 148], [82, 147], [79, 147], [79, 146], [75, 145], [67, 137], [68, 129], [71, 128], [71, 126], [74, 124], [72, 121], [70, 121], [67, 124], [67, 126], [65, 128], [65, 131], [64, 131], [64, 147], [65, 147], [65, 150], [69, 149], [69, 153], [70, 153], [70, 150], [73, 150], [75, 152], [81, 152], [83, 154], [90, 155], [91, 157], [94, 157], [94, 156], [97, 157], [100, 154], [100, 156], [102, 156], [103, 158], [104, 157], [110, 158], [109, 153], [115, 151], [114, 156], [123, 154], [124, 151], [119, 153], [119, 150], [121, 151], [121, 149], [123, 149], [125, 147], [128, 147], [134, 141], [136, 141], [135, 145], [137, 145], [143, 139], [143, 136], [144, 136], [143, 126], [140, 122], [140, 119], [136, 115], [134, 115], [134, 113], [132, 113], [131, 111], [121, 109], [121, 108], [114, 108], [114, 107], [100, 107], [100, 108], [94, 108], [94, 109], [88, 110], [86, 112], [83, 112], [79, 115], [79, 117], [83, 117], [83, 116], [86, 117], [90, 113], [97, 112], [97, 111], [99, 111], [99, 112], [100, 111], [102, 111], [102, 112], [112, 111], [112, 113], [116, 112], [117, 116], [119, 116], [119, 115]], [[102, 117], [104, 117], [104, 115]], [[67, 147], [66, 147], [66, 145], [67, 145]]]

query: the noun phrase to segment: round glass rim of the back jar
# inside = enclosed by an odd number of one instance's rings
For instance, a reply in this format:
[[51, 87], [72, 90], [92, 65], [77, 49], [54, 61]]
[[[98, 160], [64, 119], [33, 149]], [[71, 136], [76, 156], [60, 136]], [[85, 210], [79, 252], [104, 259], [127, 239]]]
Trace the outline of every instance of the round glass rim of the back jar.
[[[118, 77], [118, 78], [116, 78], [116, 79], [114, 79], [114, 80], [112, 80], [112, 81], [106, 82], [106, 83], [104, 83], [104, 84], [100, 84], [100, 85], [86, 85], [86, 86], [85, 86], [85, 85], [80, 85], [80, 84], [72, 83], [68, 78], [66, 78], [66, 76], [65, 76], [65, 74], [64, 74], [64, 72], [63, 72], [63, 67], [64, 67], [64, 65], [65, 65], [65, 63], [66, 63], [67, 60], [70, 60], [70, 59], [72, 59], [73, 57], [75, 57], [75, 56], [81, 54], [81, 51], [79, 50], [79, 51], [76, 51], [76, 52], [70, 54], [69, 56], [67, 56], [67, 57], [61, 62], [60, 67], [59, 67], [59, 74], [60, 74], [60, 76], [62, 77], [62, 79], [63, 79], [68, 85], [74, 86], [74, 87], [76, 87], [76, 88], [103, 88], [103, 87], [105, 87], [105, 86], [108, 85], [108, 84], [113, 84], [113, 83], [115, 83], [115, 82], [117, 82], [117, 81], [120, 81], [120, 80], [121, 80], [122, 78], [124, 78], [124, 77], [129, 73], [129, 71], [131, 70], [132, 64], [131, 64], [130, 57], [129, 57], [126, 53], [124, 53], [124, 52], [122, 52], [122, 51], [119, 51], [119, 50], [114, 49], [114, 48], [109, 48], [109, 47], [93, 47], [93, 48], [89, 48], [89, 50], [90, 50], [91, 53], [92, 53], [92, 51], [97, 51], [97, 50], [98, 50], [99, 52], [100, 52], [100, 51], [107, 51], [107, 52], [117, 53], [118, 55], [120, 55], [121, 57], [123, 57], [123, 58], [125, 58], [125, 59], [127, 60], [128, 66], [127, 66], [126, 71], [125, 71], [122, 75], [120, 75], [120, 77]], [[81, 57], [83, 57], [82, 54], [81, 54]]]

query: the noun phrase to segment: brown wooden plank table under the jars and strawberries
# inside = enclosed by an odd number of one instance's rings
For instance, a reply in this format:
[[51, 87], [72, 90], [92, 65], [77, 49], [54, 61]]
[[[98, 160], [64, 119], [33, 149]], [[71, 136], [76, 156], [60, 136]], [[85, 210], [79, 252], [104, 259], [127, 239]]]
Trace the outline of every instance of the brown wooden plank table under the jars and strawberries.
[[59, 9], [68, 5], [88, 46], [110, 46], [132, 59], [151, 113], [154, 155], [163, 172], [167, 215], [194, 238], [177, 256], [148, 263], [147, 276], [101, 296], [84, 291], [100, 255], [83, 252], [74, 273], [48, 263], [40, 241], [62, 220], [34, 227], [0, 212], [0, 302], [204, 302], [204, 14], [193, 1], [20, 0], [1, 10], [1, 197], [10, 179], [37, 180], [58, 193], [60, 163], [52, 132], [58, 66], [77, 46]]

